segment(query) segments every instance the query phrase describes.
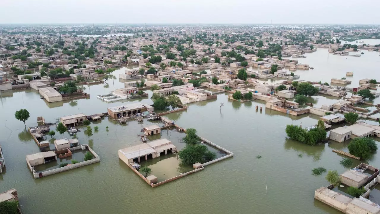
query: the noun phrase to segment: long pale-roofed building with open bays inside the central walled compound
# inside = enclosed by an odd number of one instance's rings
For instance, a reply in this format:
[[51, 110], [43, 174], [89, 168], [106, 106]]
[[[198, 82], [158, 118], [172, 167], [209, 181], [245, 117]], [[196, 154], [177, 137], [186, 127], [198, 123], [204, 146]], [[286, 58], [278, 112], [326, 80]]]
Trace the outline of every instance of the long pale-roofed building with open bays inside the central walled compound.
[[168, 139], [158, 139], [139, 145], [119, 149], [119, 158], [126, 164], [140, 162], [176, 152], [177, 147]]

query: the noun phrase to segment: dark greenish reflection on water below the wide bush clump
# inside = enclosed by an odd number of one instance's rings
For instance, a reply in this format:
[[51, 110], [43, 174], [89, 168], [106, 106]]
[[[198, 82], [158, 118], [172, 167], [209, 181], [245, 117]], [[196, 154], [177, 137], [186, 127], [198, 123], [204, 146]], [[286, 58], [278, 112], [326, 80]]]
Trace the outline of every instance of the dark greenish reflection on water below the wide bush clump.
[[312, 156], [314, 161], [318, 161], [321, 158], [323, 151], [325, 150], [325, 145], [307, 145], [292, 139], [286, 139], [284, 143], [285, 150], [293, 149], [298, 152], [302, 152], [307, 156]]

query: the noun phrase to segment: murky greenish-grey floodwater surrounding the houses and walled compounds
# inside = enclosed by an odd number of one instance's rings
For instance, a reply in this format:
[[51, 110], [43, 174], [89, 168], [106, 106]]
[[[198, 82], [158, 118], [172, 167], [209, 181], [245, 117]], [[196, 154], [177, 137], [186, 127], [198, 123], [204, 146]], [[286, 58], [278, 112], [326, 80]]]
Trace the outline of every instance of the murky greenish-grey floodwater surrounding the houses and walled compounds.
[[[379, 42], [380, 43], [380, 42]], [[302, 80], [329, 81], [345, 77], [353, 71], [352, 85], [359, 79], [376, 78], [380, 56], [376, 52], [365, 52], [361, 57], [334, 56], [327, 49], [318, 49], [299, 59], [315, 69], [298, 70]], [[115, 71], [116, 76], [123, 70]], [[272, 80], [268, 80], [270, 83]], [[27, 126], [36, 126], [36, 118], [43, 116], [47, 122], [57, 118], [85, 113], [106, 112], [107, 107], [131, 102], [152, 104], [149, 98], [106, 103], [97, 99], [122, 88], [119, 80], [108, 80], [104, 84], [85, 86], [90, 99], [48, 104], [33, 89], [3, 92], [0, 99], [0, 119], [3, 121], [0, 144], [6, 161], [6, 171], [0, 174], [0, 192], [16, 188], [21, 209], [25, 214], [66, 213], [149, 213], [158, 214], [193, 213], [341, 213], [314, 200], [315, 189], [328, 185], [326, 173], [313, 176], [312, 169], [327, 170], [345, 168], [339, 164], [342, 156], [332, 149], [348, 151], [345, 143], [330, 142], [315, 146], [304, 145], [287, 139], [287, 124], [302, 127], [315, 125], [315, 115], [289, 116], [265, 109], [263, 101], [237, 102], [218, 94], [217, 99], [189, 104], [187, 110], [166, 115], [184, 128], [196, 128], [200, 136], [209, 139], [234, 153], [233, 158], [207, 166], [203, 171], [152, 188], [119, 160], [117, 150], [141, 142], [140, 131], [147, 125], [130, 122], [120, 125], [110, 118], [92, 123], [99, 131], [91, 137], [78, 134], [80, 144], [89, 144], [99, 155], [100, 162], [41, 179], [33, 179], [27, 168], [25, 155], [39, 152], [23, 123], [14, 118], [14, 112], [25, 108], [30, 111]], [[148, 91], [149, 97], [152, 95]], [[313, 96], [316, 107], [332, 104], [335, 97]], [[379, 98], [375, 103], [379, 103]], [[221, 102], [224, 105], [220, 108]], [[255, 111], [255, 105], [263, 111]], [[220, 110], [221, 109], [221, 110]], [[376, 124], [375, 121], [369, 121]], [[109, 131], [106, 131], [109, 126]], [[171, 134], [163, 132], [162, 137]], [[60, 134], [55, 138], [59, 139]], [[67, 137], [64, 134], [63, 137]], [[50, 139], [50, 136], [47, 137]], [[378, 140], [378, 139], [375, 139]], [[302, 155], [299, 157], [298, 155]], [[258, 159], [256, 156], [261, 155]], [[174, 158], [174, 157], [173, 157]], [[173, 164], [172, 157], [165, 161]], [[169, 163], [170, 162], [170, 163]], [[353, 161], [353, 166], [359, 161]], [[367, 163], [380, 167], [380, 152]], [[165, 162], [157, 166], [157, 173], [166, 167]], [[181, 170], [181, 169], [179, 169]], [[166, 170], [165, 170], [166, 171]], [[177, 169], [170, 171], [177, 173]], [[162, 172], [165, 173], [165, 172]], [[267, 183], [267, 185], [266, 185]], [[268, 191], [268, 193], [267, 193]]]

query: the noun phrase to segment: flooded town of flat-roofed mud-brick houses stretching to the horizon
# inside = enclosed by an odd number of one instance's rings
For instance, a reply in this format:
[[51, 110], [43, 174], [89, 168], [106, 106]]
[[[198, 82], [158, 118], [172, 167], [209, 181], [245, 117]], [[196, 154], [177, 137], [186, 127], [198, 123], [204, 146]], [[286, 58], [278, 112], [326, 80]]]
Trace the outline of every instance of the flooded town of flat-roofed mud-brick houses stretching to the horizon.
[[2, 26], [0, 211], [380, 214], [379, 32]]

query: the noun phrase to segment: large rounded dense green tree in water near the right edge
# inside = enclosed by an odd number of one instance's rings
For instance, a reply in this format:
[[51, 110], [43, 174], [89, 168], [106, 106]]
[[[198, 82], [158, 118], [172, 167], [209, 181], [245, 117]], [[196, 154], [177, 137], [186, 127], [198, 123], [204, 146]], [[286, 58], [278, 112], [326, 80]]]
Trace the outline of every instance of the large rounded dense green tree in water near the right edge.
[[368, 159], [371, 153], [377, 151], [377, 144], [368, 137], [356, 137], [348, 144], [348, 151], [361, 159]]

